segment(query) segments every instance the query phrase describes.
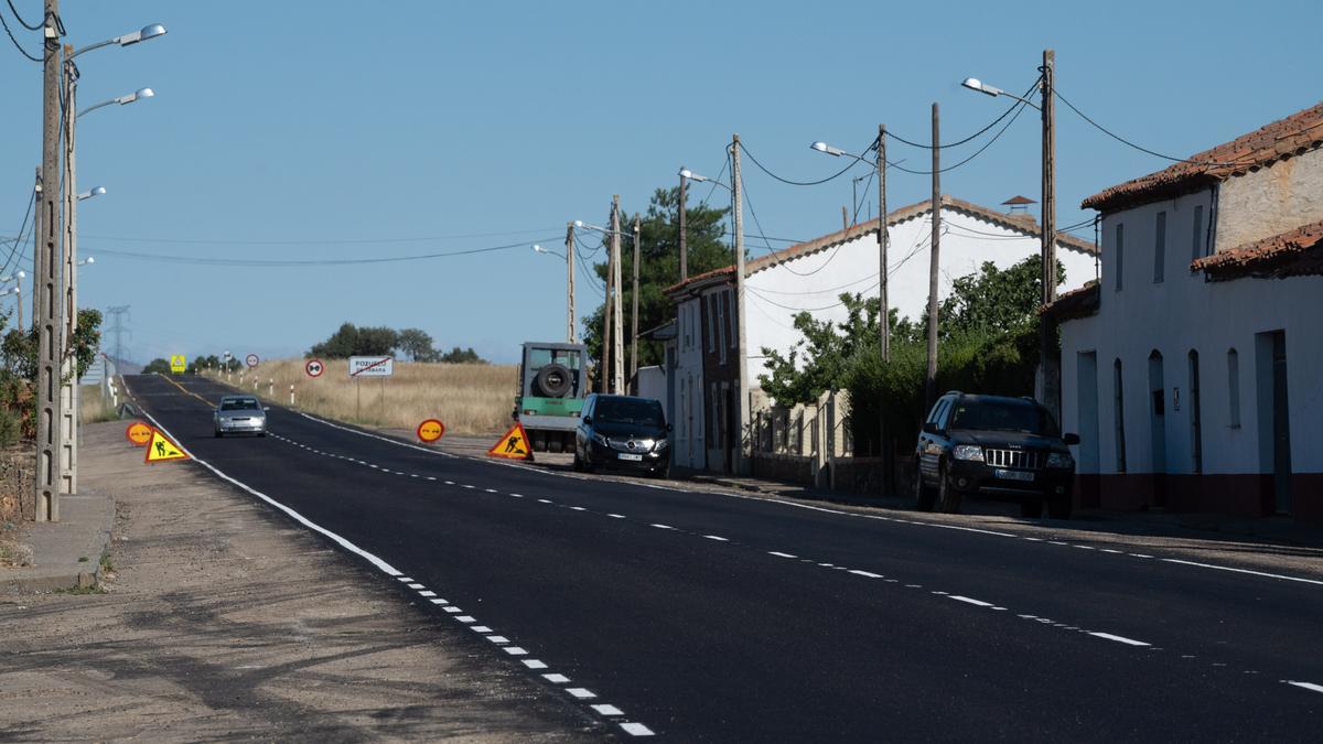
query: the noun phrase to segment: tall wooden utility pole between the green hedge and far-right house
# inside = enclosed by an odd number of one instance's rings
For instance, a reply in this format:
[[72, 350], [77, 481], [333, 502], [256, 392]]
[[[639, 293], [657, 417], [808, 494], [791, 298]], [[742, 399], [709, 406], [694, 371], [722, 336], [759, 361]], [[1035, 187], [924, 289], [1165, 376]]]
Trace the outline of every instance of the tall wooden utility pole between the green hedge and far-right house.
[[[1056, 53], [1043, 50], [1043, 304], [1057, 299], [1057, 134]], [[1050, 314], [1039, 316], [1039, 357], [1043, 360], [1043, 405], [1061, 421], [1061, 360], [1057, 324]]]

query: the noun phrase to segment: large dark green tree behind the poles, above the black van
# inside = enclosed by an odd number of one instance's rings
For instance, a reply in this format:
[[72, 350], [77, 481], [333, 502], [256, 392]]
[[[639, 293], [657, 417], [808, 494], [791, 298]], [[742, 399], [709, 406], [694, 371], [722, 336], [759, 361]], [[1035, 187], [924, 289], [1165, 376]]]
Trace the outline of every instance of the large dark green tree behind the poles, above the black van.
[[[713, 208], [688, 195], [685, 207], [685, 233], [689, 253], [688, 270], [695, 277], [734, 262], [730, 246], [724, 241], [725, 220], [729, 209]], [[675, 318], [675, 303], [665, 297], [665, 289], [680, 281], [680, 189], [656, 189], [648, 203], [647, 212], [640, 216], [639, 238], [639, 331], [655, 328]], [[610, 216], [607, 216], [610, 218]], [[610, 222], [606, 222], [610, 224]], [[626, 344], [630, 332], [630, 310], [634, 303], [634, 216], [620, 214], [620, 275], [624, 278], [620, 295], [622, 319], [624, 322]], [[587, 241], [585, 241], [587, 245]], [[591, 261], [603, 249], [610, 250], [610, 236], [602, 236], [599, 248], [589, 254], [579, 249], [582, 261]], [[599, 263], [593, 265], [597, 278], [606, 283], [606, 254]], [[601, 287], [598, 287], [601, 289]], [[583, 318], [586, 326], [583, 343], [593, 359], [602, 357], [602, 316], [606, 303], [599, 304], [591, 315]], [[626, 346], [626, 353], [628, 347]], [[655, 342], [639, 342], [639, 365], [662, 363], [663, 348]]]

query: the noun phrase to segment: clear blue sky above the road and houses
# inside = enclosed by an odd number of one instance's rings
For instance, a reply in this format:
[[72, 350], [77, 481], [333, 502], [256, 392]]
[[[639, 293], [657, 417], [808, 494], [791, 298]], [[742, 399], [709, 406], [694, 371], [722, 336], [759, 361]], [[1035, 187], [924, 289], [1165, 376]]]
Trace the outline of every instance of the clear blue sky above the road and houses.
[[[15, 4], [40, 16], [38, 0]], [[1146, 147], [1189, 155], [1319, 101], [1311, 83], [1323, 20], [1311, 3], [1250, 11], [1151, 0], [66, 0], [62, 15], [75, 46], [148, 23], [169, 29], [79, 58], [83, 106], [142, 86], [157, 94], [97, 111], [78, 130], [79, 187], [108, 189], [79, 209], [81, 252], [97, 257], [81, 274], [81, 303], [132, 306], [128, 346], [139, 360], [222, 349], [291, 356], [344, 320], [421, 327], [438, 346], [511, 360], [523, 340], [564, 334], [564, 263], [528, 246], [561, 244], [568, 220], [603, 222], [613, 193], [624, 209], [643, 209], [681, 164], [716, 175], [732, 132], [782, 175], [823, 177], [841, 163], [810, 142], [860, 150], [880, 122], [925, 142], [931, 102], [942, 139], [964, 136], [1004, 99], [959, 81], [1021, 91], [1050, 46], [1058, 90], [1073, 103]], [[34, 36], [20, 41], [34, 50]], [[40, 65], [0, 45], [0, 234], [12, 236], [40, 160]], [[1058, 224], [1089, 217], [1082, 197], [1166, 164], [1064, 107], [1058, 120]], [[947, 152], [946, 163], [967, 152]], [[889, 155], [927, 167], [922, 150], [892, 144]], [[745, 183], [769, 236], [839, 229], [851, 200], [849, 177], [795, 188], [746, 163]], [[894, 207], [925, 199], [930, 185], [893, 173], [889, 189]], [[1035, 113], [946, 173], [942, 191], [987, 205], [1037, 199]], [[713, 200], [726, 196], [718, 189]], [[519, 245], [295, 267], [102, 253], [306, 261], [505, 244]], [[601, 298], [581, 282], [578, 302]]]

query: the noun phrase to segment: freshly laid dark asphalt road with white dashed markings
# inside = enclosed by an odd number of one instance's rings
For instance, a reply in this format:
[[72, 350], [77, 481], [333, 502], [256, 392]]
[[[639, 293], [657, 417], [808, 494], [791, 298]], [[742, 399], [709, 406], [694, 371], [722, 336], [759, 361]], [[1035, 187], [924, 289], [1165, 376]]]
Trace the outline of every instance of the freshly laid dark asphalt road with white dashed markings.
[[128, 388], [620, 737], [1316, 740], [1323, 721], [1316, 579], [548, 473], [279, 408], [270, 437], [217, 440], [220, 385]]

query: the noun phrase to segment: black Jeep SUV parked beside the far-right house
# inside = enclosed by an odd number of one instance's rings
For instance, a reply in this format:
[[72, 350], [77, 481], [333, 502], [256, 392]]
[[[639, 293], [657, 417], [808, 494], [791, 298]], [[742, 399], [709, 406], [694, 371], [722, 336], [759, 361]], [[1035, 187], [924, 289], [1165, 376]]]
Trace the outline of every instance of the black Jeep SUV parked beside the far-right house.
[[1070, 516], [1074, 459], [1048, 409], [1032, 398], [950, 392], [937, 400], [914, 450], [914, 506], [958, 512], [964, 494], [1009, 495], [1023, 516]]

